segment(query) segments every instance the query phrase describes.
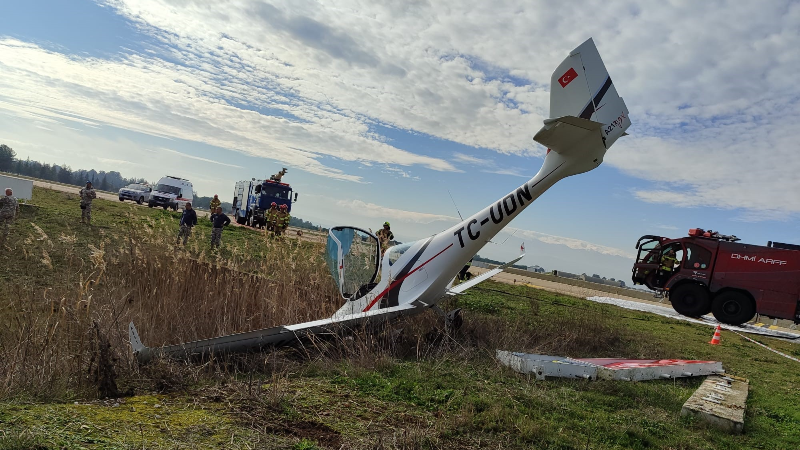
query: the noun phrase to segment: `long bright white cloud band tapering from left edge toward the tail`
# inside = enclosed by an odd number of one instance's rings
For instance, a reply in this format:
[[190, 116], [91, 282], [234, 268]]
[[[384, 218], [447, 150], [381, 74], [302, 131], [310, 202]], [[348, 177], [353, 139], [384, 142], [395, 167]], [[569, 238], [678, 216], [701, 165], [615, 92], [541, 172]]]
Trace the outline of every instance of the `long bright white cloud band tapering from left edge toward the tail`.
[[[6, 98], [0, 107], [20, 116], [58, 121], [84, 117], [90, 123], [205, 142], [351, 181], [360, 177], [327, 167], [319, 158], [455, 170], [447, 161], [371, 139], [363, 122], [336, 112], [299, 105], [292, 112], [305, 111], [308, 120], [292, 121], [234, 107], [225, 100], [241, 95], [257, 102], [259, 94], [272, 94], [249, 92], [242, 81], [236, 86], [240, 92], [218, 86], [215, 77], [224, 74], [204, 71], [214, 68], [200, 61], [192, 61], [199, 65], [192, 68], [140, 55], [116, 61], [67, 57], [9, 39], [0, 41], [0, 53], [0, 92]], [[250, 81], [255, 85], [258, 80]]]

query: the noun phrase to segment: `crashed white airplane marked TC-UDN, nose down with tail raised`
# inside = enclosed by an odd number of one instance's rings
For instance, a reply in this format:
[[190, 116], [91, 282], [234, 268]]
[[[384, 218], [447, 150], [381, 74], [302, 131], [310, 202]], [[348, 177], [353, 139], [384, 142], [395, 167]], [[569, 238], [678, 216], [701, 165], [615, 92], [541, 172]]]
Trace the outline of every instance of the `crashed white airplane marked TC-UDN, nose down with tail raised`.
[[599, 166], [608, 148], [626, 134], [630, 125], [625, 103], [589, 39], [553, 73], [550, 118], [533, 138], [548, 150], [539, 173], [528, 182], [461, 223], [434, 236], [391, 247], [383, 256], [377, 237], [369, 231], [346, 226], [330, 230], [326, 260], [344, 300], [344, 306], [333, 316], [159, 348], [145, 347], [131, 323], [133, 351], [142, 363], [157, 356], [185, 358], [254, 351], [428, 309], [445, 316], [449, 323], [458, 321], [458, 310], [445, 314], [438, 304], [494, 276], [522, 256], [454, 286], [459, 270], [558, 180]]

